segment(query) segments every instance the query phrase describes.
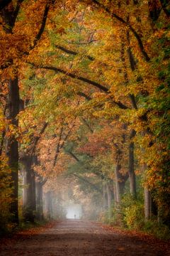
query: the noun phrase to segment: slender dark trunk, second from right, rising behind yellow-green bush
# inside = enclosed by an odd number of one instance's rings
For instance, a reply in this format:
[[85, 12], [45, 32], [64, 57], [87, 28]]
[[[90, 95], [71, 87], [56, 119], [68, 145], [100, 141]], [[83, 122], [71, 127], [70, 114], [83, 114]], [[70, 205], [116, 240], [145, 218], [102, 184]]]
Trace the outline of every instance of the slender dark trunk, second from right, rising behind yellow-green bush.
[[134, 169], [134, 142], [129, 144], [129, 168], [128, 168], [129, 178], [130, 178], [130, 193], [134, 198], [136, 198], [136, 175]]

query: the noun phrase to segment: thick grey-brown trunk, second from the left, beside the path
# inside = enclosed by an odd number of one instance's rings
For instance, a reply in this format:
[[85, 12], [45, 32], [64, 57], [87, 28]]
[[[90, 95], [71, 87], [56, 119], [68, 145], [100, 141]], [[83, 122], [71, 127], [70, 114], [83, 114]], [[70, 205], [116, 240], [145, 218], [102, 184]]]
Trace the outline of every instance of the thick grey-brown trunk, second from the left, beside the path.
[[32, 157], [24, 156], [23, 164], [23, 218], [25, 221], [34, 223], [35, 221], [35, 174], [31, 169]]

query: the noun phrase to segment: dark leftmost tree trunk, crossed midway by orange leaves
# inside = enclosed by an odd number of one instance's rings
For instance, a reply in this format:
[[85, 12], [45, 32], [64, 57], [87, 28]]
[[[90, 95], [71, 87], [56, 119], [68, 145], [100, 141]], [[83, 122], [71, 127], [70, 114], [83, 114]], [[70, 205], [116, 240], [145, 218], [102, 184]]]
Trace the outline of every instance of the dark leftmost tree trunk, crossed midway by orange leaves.
[[[16, 127], [18, 127], [17, 114], [19, 112], [19, 104], [18, 77], [16, 77], [8, 83], [8, 105], [6, 108], [6, 119], [9, 120], [9, 124]], [[15, 136], [6, 138], [6, 155], [8, 156], [8, 166], [11, 168], [12, 222], [18, 223], [18, 142]]]

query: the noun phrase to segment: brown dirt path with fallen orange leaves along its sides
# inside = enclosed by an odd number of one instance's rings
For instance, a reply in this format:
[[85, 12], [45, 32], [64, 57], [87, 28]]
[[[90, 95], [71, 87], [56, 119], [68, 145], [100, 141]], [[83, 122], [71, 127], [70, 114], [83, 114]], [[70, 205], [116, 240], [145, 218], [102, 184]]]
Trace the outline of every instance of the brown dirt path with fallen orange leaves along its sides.
[[0, 240], [0, 255], [170, 255], [169, 242], [83, 220], [62, 220]]

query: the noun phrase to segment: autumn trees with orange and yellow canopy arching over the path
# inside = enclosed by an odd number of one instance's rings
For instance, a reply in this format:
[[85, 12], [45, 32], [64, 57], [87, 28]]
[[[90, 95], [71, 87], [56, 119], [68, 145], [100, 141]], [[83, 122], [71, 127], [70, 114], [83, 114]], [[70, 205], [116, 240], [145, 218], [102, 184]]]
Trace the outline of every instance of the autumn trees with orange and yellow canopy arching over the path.
[[127, 181], [137, 198], [140, 174], [145, 218], [169, 224], [169, 15], [169, 1], [1, 1], [1, 175], [11, 170], [2, 183], [13, 223], [20, 169], [25, 220], [42, 216], [42, 186], [68, 170], [99, 193], [100, 181], [109, 208]]

